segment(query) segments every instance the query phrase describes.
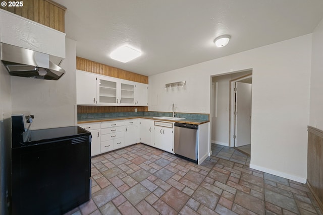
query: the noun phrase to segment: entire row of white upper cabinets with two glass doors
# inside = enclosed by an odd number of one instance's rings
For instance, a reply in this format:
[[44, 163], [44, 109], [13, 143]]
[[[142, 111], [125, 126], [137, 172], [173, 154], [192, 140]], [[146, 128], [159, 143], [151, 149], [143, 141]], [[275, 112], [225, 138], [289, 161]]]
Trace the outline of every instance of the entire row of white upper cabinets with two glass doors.
[[76, 71], [78, 105], [148, 106], [148, 85]]

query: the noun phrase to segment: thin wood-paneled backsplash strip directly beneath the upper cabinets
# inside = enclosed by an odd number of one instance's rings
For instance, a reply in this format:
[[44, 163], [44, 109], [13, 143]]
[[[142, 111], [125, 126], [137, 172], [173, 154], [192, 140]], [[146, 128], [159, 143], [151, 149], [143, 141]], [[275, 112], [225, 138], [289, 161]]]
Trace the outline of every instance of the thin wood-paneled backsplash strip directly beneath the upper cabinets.
[[133, 106], [77, 106], [77, 113], [115, 113], [115, 112], [134, 112], [135, 108], [137, 111], [148, 111], [148, 107]]

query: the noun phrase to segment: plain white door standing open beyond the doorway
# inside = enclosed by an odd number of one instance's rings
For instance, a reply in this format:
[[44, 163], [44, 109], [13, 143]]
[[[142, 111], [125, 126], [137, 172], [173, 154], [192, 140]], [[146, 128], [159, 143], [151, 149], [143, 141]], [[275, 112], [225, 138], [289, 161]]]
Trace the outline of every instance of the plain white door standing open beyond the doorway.
[[241, 147], [251, 143], [252, 84], [236, 82], [236, 88], [235, 147]]

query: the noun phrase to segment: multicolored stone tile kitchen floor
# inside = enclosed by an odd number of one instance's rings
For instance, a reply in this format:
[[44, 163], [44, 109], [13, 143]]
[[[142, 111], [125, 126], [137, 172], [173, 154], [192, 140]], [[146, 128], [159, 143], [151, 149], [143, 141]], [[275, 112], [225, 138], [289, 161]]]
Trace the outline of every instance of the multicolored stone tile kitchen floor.
[[92, 158], [92, 199], [66, 213], [320, 214], [305, 184], [249, 168], [212, 144], [201, 165], [137, 144]]

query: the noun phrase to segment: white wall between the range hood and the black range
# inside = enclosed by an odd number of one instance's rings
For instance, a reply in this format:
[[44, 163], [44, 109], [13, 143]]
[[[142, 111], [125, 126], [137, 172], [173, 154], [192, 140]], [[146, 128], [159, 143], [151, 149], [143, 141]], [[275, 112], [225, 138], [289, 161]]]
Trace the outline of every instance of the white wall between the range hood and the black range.
[[65, 75], [58, 81], [11, 77], [12, 112], [34, 114], [30, 129], [75, 125], [76, 42], [66, 38]]

